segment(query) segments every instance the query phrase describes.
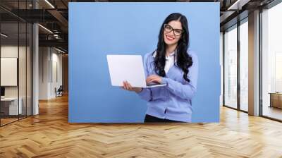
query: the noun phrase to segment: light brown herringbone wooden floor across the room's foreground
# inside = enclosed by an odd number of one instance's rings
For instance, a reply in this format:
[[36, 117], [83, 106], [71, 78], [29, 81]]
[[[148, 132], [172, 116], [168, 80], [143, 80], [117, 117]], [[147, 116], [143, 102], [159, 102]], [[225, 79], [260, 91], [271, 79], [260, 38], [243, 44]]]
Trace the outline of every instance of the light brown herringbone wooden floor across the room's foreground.
[[282, 157], [282, 123], [221, 108], [220, 123], [68, 123], [68, 98], [0, 128], [0, 157]]

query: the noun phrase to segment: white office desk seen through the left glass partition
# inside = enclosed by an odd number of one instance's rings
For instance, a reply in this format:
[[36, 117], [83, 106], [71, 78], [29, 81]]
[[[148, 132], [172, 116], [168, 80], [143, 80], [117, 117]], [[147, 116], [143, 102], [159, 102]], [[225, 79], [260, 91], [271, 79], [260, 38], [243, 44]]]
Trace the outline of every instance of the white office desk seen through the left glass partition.
[[[20, 101], [18, 104], [18, 100]], [[5, 104], [6, 103], [9, 103], [9, 112], [8, 114], [9, 115], [18, 115], [18, 111], [19, 111], [19, 114], [22, 114], [23, 113], [23, 109], [22, 109], [22, 103], [23, 103], [23, 99], [21, 97], [4, 97], [4, 98], [1, 98], [1, 102], [4, 102]], [[2, 103], [3, 104], [3, 103]]]

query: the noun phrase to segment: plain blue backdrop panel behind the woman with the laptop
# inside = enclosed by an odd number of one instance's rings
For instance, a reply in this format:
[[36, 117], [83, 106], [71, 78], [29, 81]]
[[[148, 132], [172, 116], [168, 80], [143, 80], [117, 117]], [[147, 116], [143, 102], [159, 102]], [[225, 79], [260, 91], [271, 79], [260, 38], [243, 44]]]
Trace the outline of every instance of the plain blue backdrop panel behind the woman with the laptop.
[[112, 87], [106, 54], [140, 54], [157, 48], [171, 13], [188, 18], [190, 49], [199, 60], [192, 122], [219, 121], [219, 3], [69, 3], [69, 110], [71, 123], [143, 122], [146, 102]]

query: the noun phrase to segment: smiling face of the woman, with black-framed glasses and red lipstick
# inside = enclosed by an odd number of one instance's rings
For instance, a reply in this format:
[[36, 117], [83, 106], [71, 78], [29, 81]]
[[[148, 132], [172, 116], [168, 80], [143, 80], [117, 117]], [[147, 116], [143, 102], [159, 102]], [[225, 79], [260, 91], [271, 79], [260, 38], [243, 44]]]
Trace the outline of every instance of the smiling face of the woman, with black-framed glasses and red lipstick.
[[177, 44], [182, 36], [182, 34], [179, 35], [179, 33], [181, 33], [181, 30], [183, 32], [181, 23], [178, 20], [172, 20], [167, 24], [168, 25], [164, 26], [164, 42], [168, 45]]

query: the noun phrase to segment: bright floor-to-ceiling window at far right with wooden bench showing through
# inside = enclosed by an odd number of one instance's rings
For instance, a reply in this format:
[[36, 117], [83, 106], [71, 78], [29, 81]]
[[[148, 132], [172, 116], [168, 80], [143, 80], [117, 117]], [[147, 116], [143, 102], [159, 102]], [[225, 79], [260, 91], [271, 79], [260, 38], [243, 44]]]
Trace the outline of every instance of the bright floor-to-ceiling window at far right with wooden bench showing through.
[[282, 3], [262, 12], [262, 115], [282, 120]]

